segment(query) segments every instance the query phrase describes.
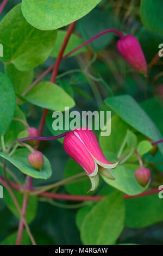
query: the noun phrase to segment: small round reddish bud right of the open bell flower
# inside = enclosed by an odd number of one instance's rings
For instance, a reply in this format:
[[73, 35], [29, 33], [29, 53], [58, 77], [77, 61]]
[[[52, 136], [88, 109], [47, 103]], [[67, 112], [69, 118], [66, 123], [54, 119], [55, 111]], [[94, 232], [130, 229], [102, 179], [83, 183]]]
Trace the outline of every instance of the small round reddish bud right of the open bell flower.
[[135, 179], [141, 186], [145, 187], [151, 179], [150, 170], [147, 168], [140, 168], [135, 170]]

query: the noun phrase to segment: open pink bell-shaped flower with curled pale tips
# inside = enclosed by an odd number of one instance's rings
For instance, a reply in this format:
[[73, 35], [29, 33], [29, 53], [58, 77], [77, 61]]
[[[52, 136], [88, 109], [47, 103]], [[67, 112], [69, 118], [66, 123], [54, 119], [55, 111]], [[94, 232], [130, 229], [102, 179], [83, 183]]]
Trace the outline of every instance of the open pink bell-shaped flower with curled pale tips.
[[89, 176], [92, 183], [90, 191], [98, 186], [98, 170], [102, 176], [115, 179], [110, 169], [115, 168], [118, 162], [108, 162], [99, 147], [95, 134], [87, 127], [78, 127], [69, 132], [64, 138], [64, 149]]

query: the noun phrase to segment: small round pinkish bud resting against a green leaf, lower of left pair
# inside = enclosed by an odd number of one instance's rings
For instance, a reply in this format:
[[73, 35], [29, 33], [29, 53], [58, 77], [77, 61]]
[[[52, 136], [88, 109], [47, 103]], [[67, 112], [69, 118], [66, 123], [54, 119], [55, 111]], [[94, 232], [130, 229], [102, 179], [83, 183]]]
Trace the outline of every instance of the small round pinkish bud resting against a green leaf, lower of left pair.
[[43, 155], [40, 151], [36, 151], [28, 155], [28, 162], [36, 170], [41, 170], [43, 167]]

